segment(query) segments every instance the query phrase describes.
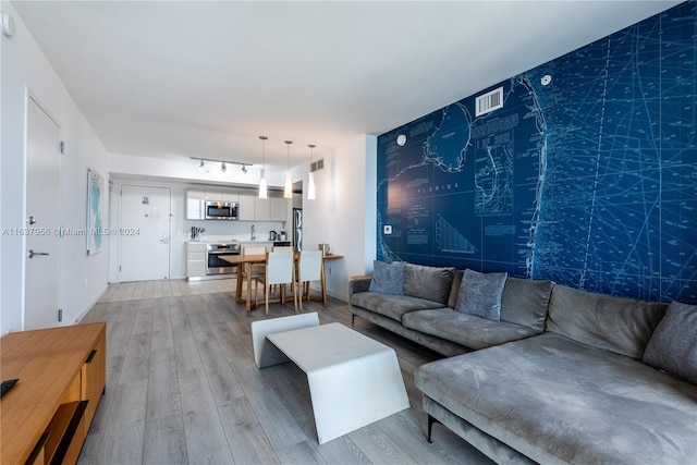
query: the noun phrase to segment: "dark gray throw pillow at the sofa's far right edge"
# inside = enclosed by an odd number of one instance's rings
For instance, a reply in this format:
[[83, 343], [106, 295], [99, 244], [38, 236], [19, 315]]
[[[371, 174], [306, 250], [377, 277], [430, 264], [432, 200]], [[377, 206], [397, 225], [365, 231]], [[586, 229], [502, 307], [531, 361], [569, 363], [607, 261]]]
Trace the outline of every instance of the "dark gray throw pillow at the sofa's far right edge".
[[647, 365], [697, 384], [697, 306], [672, 302], [644, 351]]

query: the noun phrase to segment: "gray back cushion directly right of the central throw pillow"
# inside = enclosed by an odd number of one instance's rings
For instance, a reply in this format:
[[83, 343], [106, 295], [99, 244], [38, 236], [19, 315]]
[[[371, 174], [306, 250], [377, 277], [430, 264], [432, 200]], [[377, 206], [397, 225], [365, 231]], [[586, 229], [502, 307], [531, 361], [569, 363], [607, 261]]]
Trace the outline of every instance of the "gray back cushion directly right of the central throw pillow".
[[501, 321], [545, 330], [553, 282], [509, 277], [501, 295]]

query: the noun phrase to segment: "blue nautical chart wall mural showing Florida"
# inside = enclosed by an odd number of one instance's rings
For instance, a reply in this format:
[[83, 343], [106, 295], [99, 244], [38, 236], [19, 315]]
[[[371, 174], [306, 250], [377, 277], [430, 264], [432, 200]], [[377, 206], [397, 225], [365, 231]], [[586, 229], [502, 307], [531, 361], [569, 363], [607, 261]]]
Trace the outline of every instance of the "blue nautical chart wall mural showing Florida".
[[379, 136], [378, 259], [697, 302], [695, 5]]

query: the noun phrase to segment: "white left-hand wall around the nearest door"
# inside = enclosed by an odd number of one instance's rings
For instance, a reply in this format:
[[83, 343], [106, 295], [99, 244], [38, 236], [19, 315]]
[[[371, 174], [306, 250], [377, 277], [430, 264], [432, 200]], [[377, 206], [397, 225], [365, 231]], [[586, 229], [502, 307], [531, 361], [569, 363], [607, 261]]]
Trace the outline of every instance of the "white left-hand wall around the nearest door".
[[[50, 63], [34, 41], [12, 5], [2, 2], [12, 15], [16, 34], [1, 37], [1, 142], [0, 229], [23, 228], [25, 223], [25, 124], [27, 95], [32, 93], [56, 117], [65, 142], [61, 161], [61, 225], [85, 228], [87, 168], [107, 178], [107, 151], [75, 106]], [[88, 257], [85, 237], [61, 238], [60, 308], [63, 325], [75, 322], [107, 286], [107, 252]], [[24, 238], [0, 237], [0, 333], [23, 329]]]

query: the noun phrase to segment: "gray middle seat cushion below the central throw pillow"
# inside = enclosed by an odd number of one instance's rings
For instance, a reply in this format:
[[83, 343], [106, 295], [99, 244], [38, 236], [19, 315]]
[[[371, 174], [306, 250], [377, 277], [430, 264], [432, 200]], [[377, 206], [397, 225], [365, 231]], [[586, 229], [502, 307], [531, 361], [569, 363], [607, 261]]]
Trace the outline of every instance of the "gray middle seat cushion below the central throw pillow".
[[531, 328], [505, 321], [491, 321], [450, 308], [411, 311], [402, 316], [402, 325], [426, 334], [479, 350], [539, 334]]

